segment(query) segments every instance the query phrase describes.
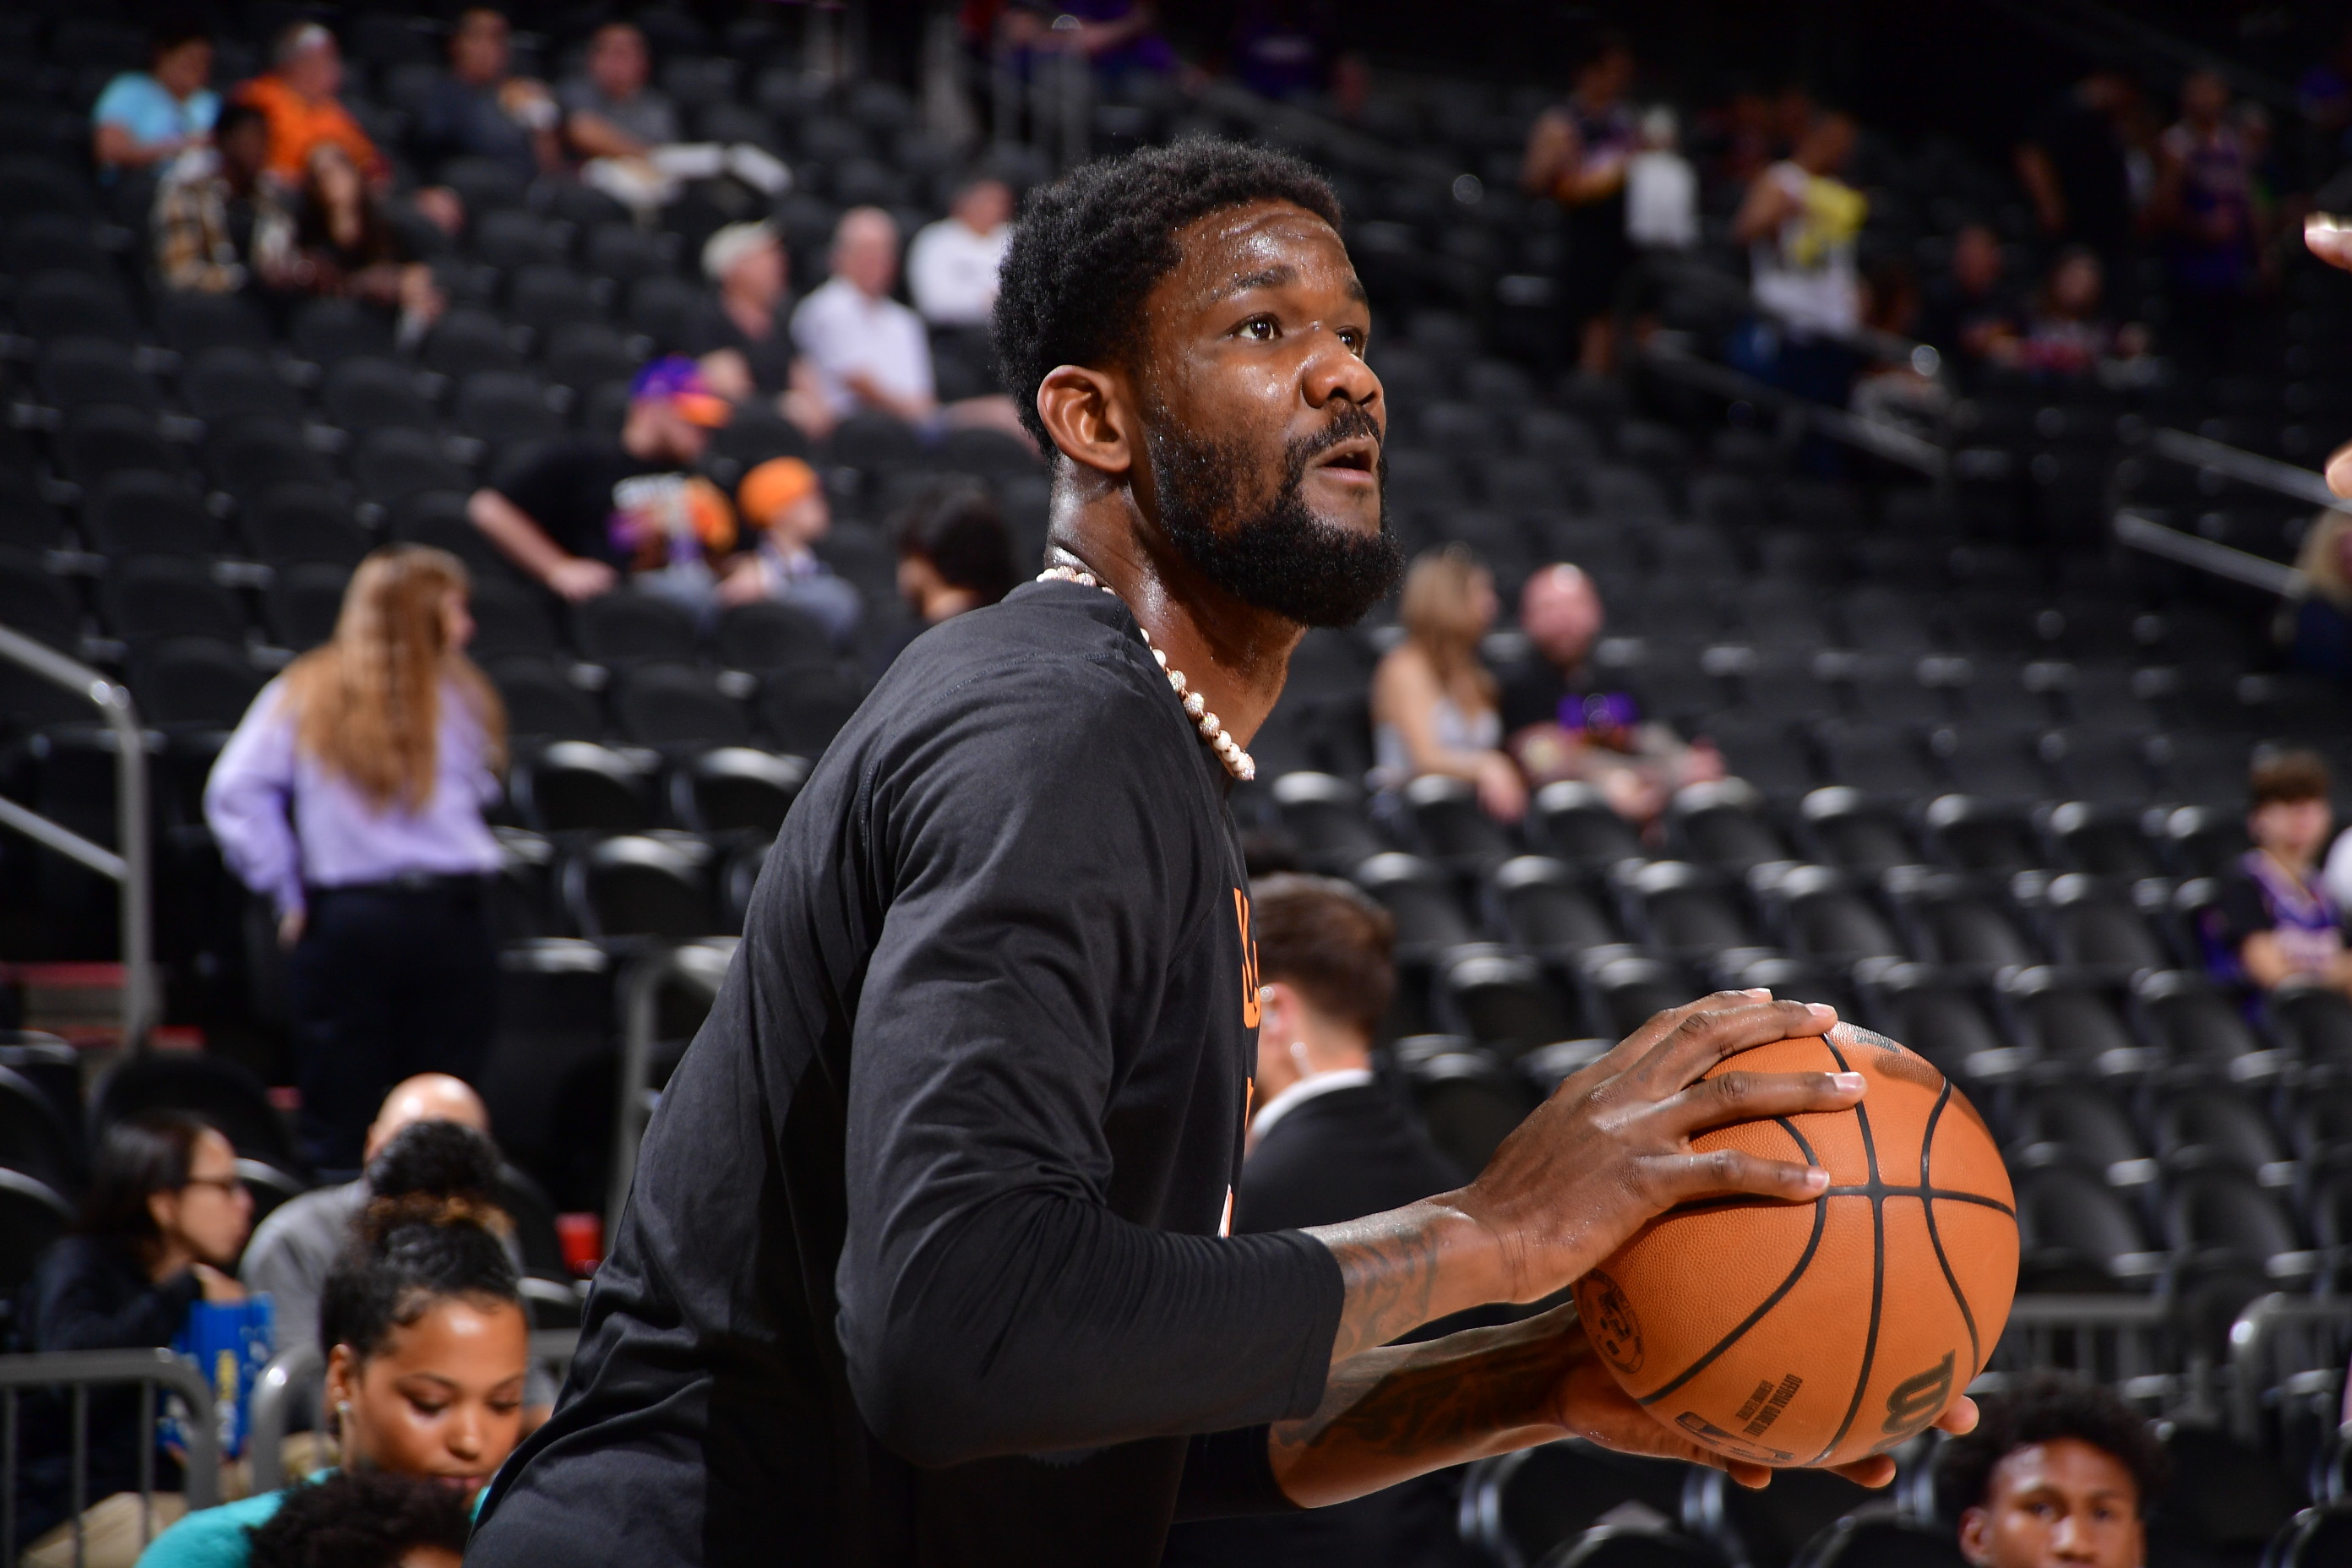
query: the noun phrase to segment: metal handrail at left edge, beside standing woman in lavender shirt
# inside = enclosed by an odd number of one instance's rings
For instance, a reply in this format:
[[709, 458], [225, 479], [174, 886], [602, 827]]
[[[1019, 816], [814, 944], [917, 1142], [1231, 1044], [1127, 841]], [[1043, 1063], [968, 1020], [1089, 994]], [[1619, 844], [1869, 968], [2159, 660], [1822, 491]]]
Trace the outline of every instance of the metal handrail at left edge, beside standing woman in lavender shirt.
[[35, 844], [80, 860], [122, 889], [118, 900], [122, 914], [122, 1046], [136, 1051], [146, 1046], [148, 1025], [155, 1020], [151, 912], [155, 858], [148, 846], [146, 738], [139, 733], [139, 710], [132, 705], [132, 693], [101, 672], [5, 625], [0, 625], [0, 658], [96, 708], [115, 736], [115, 844], [120, 844], [120, 853], [92, 844], [64, 823], [52, 823], [7, 797], [0, 797], [0, 827], [14, 827]]

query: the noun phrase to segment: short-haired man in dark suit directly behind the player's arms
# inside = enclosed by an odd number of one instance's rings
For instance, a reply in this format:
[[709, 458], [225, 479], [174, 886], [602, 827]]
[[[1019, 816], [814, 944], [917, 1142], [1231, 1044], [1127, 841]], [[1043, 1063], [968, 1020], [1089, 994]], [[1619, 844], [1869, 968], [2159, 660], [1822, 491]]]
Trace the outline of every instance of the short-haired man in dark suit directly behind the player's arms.
[[[1397, 980], [1388, 910], [1329, 877], [1258, 877], [1249, 931], [1258, 945], [1258, 1072], [1232, 1194], [1235, 1234], [1338, 1225], [1458, 1187], [1463, 1175], [1374, 1077], [1371, 1041]], [[1181, 1523], [1162, 1563], [1442, 1563], [1454, 1559], [1451, 1502], [1442, 1476], [1421, 1476], [1327, 1509]]]

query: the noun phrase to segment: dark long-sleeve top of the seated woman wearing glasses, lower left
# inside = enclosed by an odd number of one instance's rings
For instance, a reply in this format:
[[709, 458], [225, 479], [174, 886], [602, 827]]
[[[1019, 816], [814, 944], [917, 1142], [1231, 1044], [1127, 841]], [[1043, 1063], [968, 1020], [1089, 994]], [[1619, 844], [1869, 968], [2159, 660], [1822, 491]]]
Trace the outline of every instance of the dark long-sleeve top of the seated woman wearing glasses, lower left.
[[[146, 1349], [169, 1345], [188, 1319], [200, 1288], [181, 1269], [162, 1284], [148, 1279], [139, 1255], [108, 1237], [66, 1237], [40, 1255], [24, 1293], [26, 1349]], [[16, 1542], [38, 1540], [71, 1514], [73, 1453], [66, 1396], [35, 1392], [24, 1401], [19, 1453], [26, 1455], [16, 1490]], [[155, 1432], [139, 1427], [139, 1389], [122, 1385], [89, 1394], [89, 1446], [82, 1505], [139, 1488], [139, 1450]], [[155, 1455], [158, 1490], [179, 1490], [179, 1465]], [[14, 1552], [12, 1552], [14, 1556]]]

